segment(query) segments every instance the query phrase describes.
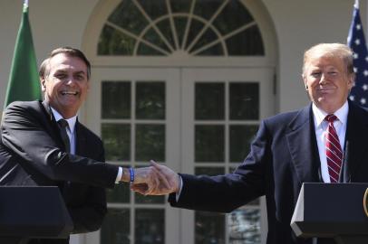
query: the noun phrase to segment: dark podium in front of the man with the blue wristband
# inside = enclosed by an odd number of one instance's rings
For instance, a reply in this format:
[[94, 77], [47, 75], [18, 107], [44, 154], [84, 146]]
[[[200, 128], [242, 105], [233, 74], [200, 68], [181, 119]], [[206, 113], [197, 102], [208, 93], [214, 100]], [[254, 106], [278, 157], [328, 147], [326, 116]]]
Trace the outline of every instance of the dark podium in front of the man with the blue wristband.
[[0, 187], [0, 243], [66, 239], [73, 221], [56, 186]]

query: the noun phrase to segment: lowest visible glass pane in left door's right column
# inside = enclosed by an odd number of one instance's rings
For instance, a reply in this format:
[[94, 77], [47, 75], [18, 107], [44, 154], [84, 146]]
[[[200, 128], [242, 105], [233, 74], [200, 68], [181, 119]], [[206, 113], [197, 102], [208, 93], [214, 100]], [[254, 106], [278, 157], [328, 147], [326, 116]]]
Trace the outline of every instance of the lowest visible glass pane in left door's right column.
[[165, 211], [137, 209], [135, 211], [135, 243], [165, 243]]

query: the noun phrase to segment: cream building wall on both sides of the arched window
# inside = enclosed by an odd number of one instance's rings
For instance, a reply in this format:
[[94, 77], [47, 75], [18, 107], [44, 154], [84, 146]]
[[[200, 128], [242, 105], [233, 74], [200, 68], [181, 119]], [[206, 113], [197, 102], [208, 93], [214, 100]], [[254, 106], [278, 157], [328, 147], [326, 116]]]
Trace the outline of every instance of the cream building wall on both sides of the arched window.
[[[29, 2], [38, 63], [55, 47], [64, 45], [82, 47], [86, 23], [98, 0], [29, 0]], [[346, 42], [354, 1], [263, 0], [263, 2], [274, 21], [278, 38], [277, 110], [300, 108], [308, 101], [300, 79], [303, 52], [318, 42]], [[1, 107], [5, 99], [22, 5], [22, 0], [0, 1]], [[361, 0], [360, 5], [365, 24], [366, 1]]]

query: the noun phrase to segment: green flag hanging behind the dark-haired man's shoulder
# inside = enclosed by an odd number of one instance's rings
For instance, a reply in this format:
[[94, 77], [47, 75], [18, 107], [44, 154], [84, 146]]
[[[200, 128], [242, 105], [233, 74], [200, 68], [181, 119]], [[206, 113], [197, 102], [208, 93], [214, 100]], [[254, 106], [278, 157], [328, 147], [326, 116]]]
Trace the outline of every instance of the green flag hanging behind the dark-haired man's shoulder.
[[4, 108], [15, 100], [28, 101], [41, 98], [34, 42], [28, 20], [28, 1], [24, 1], [22, 22], [16, 37]]

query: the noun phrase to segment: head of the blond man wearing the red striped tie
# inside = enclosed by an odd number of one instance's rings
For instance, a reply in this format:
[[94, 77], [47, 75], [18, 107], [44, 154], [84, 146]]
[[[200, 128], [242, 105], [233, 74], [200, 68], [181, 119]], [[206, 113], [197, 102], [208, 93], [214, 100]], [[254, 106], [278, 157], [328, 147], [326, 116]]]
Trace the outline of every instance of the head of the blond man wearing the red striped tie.
[[342, 108], [353, 87], [353, 57], [347, 47], [320, 44], [305, 52], [303, 80], [315, 107], [327, 114]]

